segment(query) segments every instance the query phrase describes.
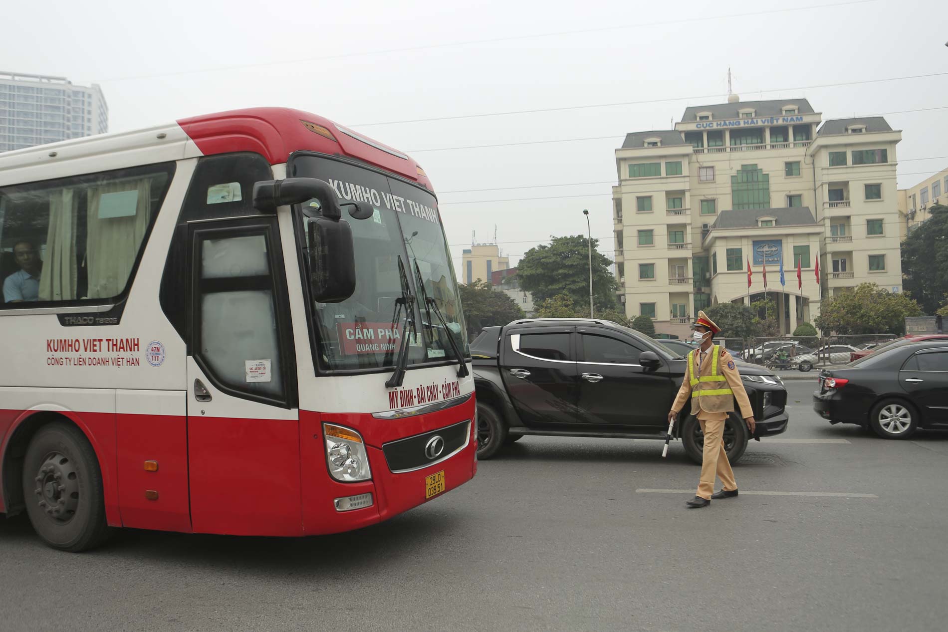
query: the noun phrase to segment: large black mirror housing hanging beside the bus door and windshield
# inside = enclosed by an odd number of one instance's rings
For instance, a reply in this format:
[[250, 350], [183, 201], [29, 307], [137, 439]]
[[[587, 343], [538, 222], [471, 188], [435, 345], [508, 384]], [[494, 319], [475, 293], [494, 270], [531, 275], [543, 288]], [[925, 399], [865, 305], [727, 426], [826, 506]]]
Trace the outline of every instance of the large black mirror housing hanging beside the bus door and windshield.
[[325, 217], [305, 221], [309, 237], [309, 285], [313, 299], [320, 303], [340, 303], [356, 291], [352, 227], [338, 219]]

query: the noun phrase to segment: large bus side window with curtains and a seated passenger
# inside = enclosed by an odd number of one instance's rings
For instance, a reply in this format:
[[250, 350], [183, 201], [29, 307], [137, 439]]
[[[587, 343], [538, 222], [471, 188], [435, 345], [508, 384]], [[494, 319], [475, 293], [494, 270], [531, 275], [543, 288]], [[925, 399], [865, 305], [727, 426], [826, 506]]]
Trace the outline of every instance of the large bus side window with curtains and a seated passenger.
[[12, 255], [4, 306], [118, 298], [172, 173], [153, 165], [0, 190], [0, 252]]

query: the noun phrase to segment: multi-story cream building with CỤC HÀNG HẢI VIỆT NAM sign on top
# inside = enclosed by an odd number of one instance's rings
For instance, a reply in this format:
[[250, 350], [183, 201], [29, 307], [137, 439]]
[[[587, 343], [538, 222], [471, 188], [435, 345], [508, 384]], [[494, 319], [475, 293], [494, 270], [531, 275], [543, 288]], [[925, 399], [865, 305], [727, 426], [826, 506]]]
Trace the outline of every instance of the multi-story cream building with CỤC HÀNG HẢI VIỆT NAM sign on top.
[[902, 291], [901, 139], [883, 117], [823, 121], [807, 99], [736, 96], [686, 108], [674, 130], [627, 135], [612, 188], [626, 314], [687, 334], [700, 309], [762, 298], [765, 265], [784, 333], [861, 282]]

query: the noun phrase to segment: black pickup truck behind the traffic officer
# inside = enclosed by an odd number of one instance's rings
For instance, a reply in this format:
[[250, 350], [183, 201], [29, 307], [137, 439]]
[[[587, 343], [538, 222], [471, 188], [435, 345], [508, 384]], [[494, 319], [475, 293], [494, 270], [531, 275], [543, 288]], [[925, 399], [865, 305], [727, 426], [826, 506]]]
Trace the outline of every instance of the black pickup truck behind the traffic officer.
[[[523, 435], [665, 440], [668, 410], [687, 361], [645, 334], [610, 320], [533, 318], [486, 327], [471, 343], [477, 390], [478, 458]], [[787, 390], [770, 370], [739, 362], [754, 406], [752, 436], [738, 415], [724, 427], [728, 459], [750, 439], [787, 429]], [[673, 436], [700, 463], [698, 420], [679, 415]]]

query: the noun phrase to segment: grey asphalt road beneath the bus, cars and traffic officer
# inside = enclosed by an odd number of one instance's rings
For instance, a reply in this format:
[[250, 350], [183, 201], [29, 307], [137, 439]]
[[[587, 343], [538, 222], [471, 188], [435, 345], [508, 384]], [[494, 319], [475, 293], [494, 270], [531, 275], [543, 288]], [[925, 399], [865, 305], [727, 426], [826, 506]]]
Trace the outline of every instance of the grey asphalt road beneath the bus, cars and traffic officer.
[[[830, 426], [811, 382], [742, 495], [685, 510], [673, 444], [524, 438], [465, 487], [357, 533], [125, 531], [71, 555], [0, 519], [4, 630], [942, 630], [948, 436]], [[688, 490], [685, 494], [636, 490]]]

